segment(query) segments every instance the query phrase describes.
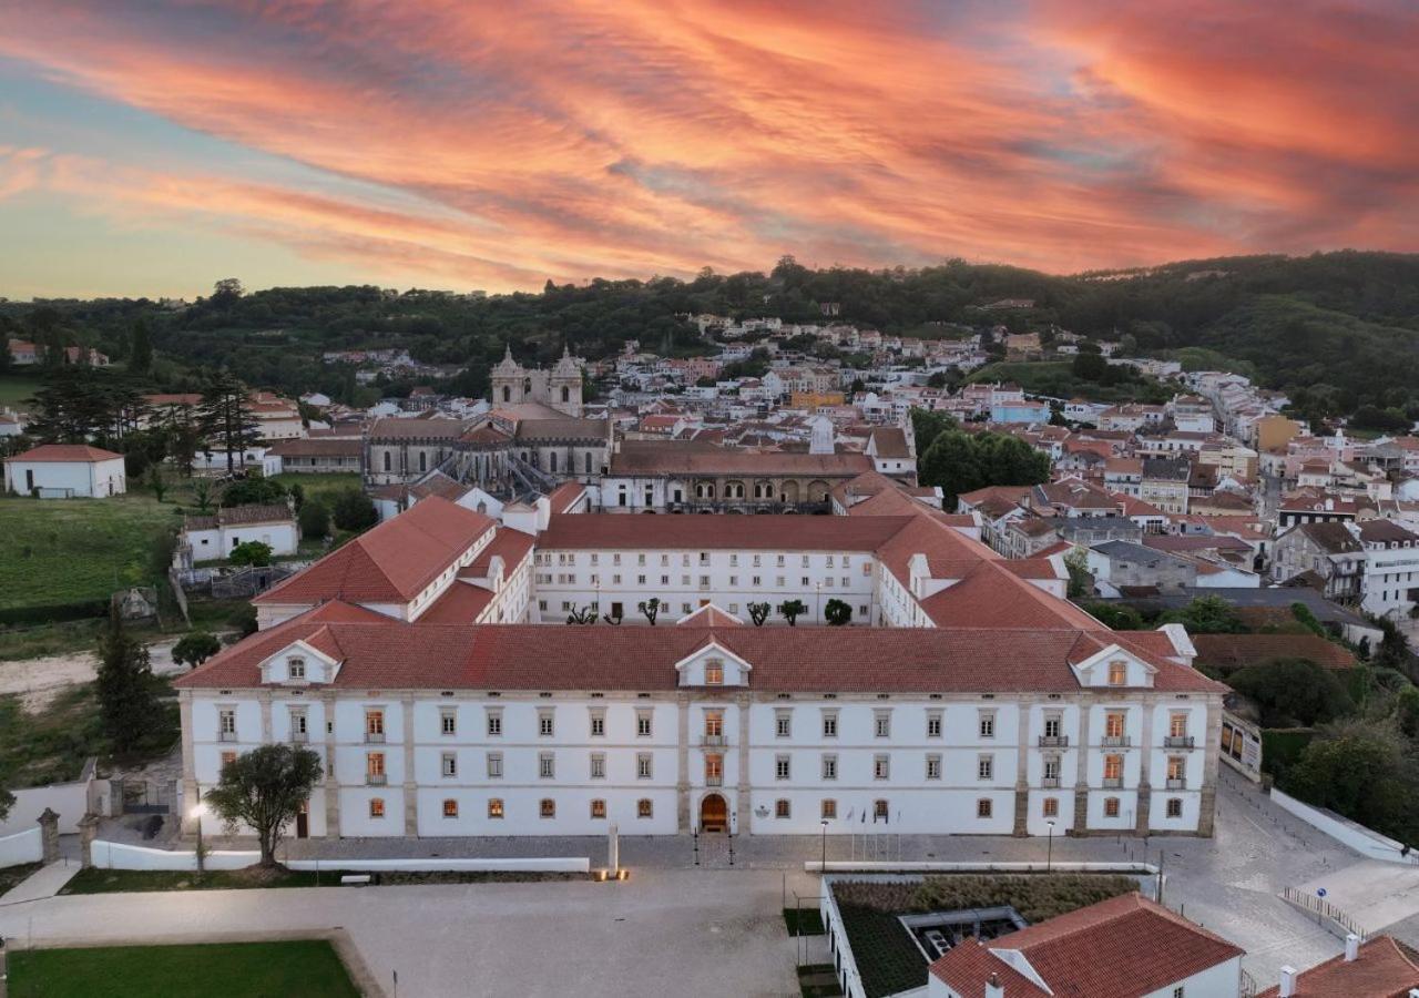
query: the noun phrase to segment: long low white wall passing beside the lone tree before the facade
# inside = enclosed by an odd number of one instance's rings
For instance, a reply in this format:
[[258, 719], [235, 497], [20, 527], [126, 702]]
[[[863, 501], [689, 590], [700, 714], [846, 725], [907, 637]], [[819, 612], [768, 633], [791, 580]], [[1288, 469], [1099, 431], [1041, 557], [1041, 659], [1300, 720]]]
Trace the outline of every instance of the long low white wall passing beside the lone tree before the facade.
[[[35, 829], [38, 836], [38, 829]], [[0, 840], [3, 842], [3, 840]], [[38, 838], [35, 838], [38, 842]], [[197, 853], [170, 849], [129, 846], [121, 842], [94, 842], [94, 866], [104, 870], [196, 870]], [[207, 853], [206, 869], [240, 870], [261, 860], [258, 852], [213, 850]], [[284, 863], [291, 870], [358, 870], [360, 873], [589, 873], [592, 860], [585, 856], [551, 859], [292, 859]]]

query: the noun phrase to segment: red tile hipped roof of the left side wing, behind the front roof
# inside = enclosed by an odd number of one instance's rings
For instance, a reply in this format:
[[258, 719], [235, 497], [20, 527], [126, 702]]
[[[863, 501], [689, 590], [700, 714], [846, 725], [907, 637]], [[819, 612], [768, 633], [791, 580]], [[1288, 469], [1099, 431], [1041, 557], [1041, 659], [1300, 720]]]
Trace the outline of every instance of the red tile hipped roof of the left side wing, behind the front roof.
[[492, 528], [481, 512], [430, 495], [251, 602], [406, 603]]

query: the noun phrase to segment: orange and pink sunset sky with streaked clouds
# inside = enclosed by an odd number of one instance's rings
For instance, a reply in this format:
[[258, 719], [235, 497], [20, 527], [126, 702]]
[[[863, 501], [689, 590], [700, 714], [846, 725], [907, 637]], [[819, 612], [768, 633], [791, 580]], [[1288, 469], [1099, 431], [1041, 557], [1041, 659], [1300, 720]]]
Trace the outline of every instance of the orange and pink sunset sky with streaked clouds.
[[0, 295], [1419, 250], [1419, 4], [0, 0]]

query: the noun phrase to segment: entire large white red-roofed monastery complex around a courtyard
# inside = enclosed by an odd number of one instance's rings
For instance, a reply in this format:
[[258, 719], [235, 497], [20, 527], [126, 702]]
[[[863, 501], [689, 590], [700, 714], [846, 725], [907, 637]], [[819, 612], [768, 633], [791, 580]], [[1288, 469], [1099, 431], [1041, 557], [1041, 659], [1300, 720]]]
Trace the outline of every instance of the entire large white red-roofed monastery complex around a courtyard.
[[1057, 561], [876, 471], [837, 517], [565, 512], [583, 491], [501, 524], [429, 497], [258, 596], [176, 683], [184, 794], [294, 741], [312, 836], [1210, 835], [1225, 687], [1179, 626], [1111, 632]]

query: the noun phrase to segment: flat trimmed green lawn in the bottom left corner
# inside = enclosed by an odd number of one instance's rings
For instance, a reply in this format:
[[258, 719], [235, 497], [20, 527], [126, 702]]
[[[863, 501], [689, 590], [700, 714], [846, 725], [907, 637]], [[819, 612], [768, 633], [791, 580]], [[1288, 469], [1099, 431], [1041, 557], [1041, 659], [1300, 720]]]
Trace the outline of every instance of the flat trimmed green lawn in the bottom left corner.
[[325, 940], [10, 954], [10, 998], [358, 998]]

